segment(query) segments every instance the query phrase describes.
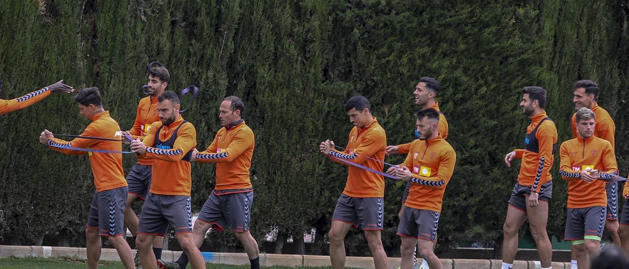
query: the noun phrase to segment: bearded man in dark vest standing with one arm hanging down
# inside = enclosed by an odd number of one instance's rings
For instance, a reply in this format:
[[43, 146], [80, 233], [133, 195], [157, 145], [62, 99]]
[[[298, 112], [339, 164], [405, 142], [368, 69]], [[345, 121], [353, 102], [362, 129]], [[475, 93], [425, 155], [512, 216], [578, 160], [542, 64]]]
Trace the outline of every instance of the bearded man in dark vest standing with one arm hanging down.
[[518, 182], [513, 187], [507, 217], [504, 221], [502, 269], [513, 267], [518, 251], [518, 230], [528, 219], [529, 228], [537, 245], [542, 269], [551, 267], [552, 246], [546, 232], [548, 200], [552, 194], [550, 168], [554, 162], [557, 128], [548, 118], [544, 107], [546, 91], [542, 87], [524, 87], [520, 102], [523, 113], [531, 119], [526, 128], [525, 148], [504, 156], [504, 163], [511, 167], [514, 158], [522, 159]]

